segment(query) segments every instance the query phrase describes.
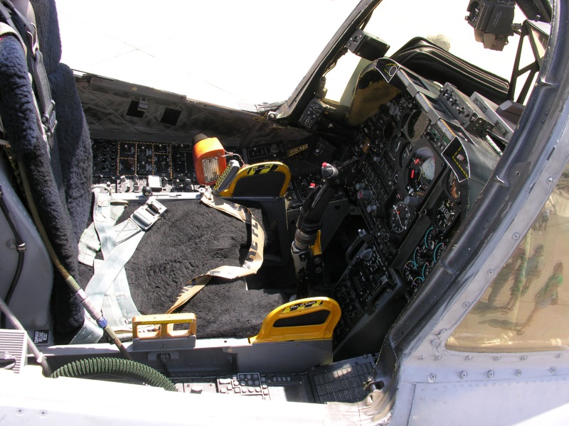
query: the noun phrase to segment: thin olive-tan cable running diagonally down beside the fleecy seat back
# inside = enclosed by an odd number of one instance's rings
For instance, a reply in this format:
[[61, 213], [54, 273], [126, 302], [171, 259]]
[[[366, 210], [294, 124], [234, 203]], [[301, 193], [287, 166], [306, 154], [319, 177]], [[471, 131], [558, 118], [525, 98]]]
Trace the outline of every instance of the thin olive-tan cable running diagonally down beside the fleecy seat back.
[[18, 169], [20, 170], [21, 180], [23, 183], [23, 190], [26, 193], [26, 199], [28, 200], [28, 207], [31, 212], [31, 216], [33, 218], [33, 222], [36, 224], [36, 228], [41, 236], [43, 244], [46, 246], [48, 254], [53, 262], [53, 265], [59, 273], [63, 276], [63, 280], [65, 283], [69, 285], [71, 290], [75, 293], [75, 297], [81, 302], [81, 305], [85, 308], [85, 310], [89, 313], [90, 317], [92, 317], [95, 322], [103, 329], [103, 331], [107, 334], [107, 337], [117, 346], [120, 353], [124, 358], [129, 359], [132, 361], [132, 357], [130, 356], [127, 349], [123, 346], [122, 342], [117, 337], [115, 330], [109, 327], [107, 320], [103, 317], [102, 312], [97, 312], [97, 308], [92, 304], [89, 297], [85, 294], [82, 288], [80, 288], [75, 278], [73, 278], [70, 273], [65, 269], [65, 266], [60, 262], [57, 253], [53, 249], [51, 242], [48, 237], [48, 233], [46, 232], [46, 228], [41, 223], [41, 219], [38, 213], [38, 208], [36, 207], [36, 203], [33, 201], [33, 196], [31, 192], [30, 182], [28, 180], [28, 174], [26, 173], [26, 168], [24, 167], [21, 160], [18, 160]]

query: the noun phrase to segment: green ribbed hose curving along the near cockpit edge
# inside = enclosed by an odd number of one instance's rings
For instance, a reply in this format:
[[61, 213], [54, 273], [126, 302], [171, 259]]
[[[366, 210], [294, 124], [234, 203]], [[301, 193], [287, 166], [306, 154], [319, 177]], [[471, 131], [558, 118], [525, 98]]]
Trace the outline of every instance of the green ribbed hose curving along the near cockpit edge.
[[164, 388], [166, 391], [177, 392], [176, 386], [169, 378], [149, 366], [137, 361], [120, 358], [88, 358], [70, 362], [58, 368], [51, 377], [75, 377], [109, 374], [141, 381], [149, 386]]

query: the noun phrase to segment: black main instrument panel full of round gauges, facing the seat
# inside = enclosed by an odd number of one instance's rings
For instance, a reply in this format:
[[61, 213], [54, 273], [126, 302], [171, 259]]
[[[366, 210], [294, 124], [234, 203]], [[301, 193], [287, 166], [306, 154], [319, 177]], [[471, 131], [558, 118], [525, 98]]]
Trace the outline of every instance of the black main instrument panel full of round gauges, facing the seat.
[[384, 307], [404, 305], [425, 283], [499, 156], [446, 109], [449, 85], [445, 92], [402, 67], [387, 74], [400, 92], [363, 121], [349, 153], [357, 160], [343, 168], [365, 223], [331, 293], [343, 312], [336, 350], [348, 353], [371, 335], [366, 328], [391, 323]]

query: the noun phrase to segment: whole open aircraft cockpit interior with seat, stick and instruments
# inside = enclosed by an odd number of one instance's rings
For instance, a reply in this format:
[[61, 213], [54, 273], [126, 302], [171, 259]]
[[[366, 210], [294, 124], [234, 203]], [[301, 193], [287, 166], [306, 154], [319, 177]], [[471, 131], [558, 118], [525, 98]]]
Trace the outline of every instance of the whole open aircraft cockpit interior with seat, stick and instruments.
[[[0, 359], [14, 335], [18, 371], [38, 364], [61, 392], [62, 376], [87, 377], [388, 421], [418, 327], [458, 303], [462, 274], [506, 226], [480, 212], [490, 185], [516, 188], [496, 170], [521, 152], [553, 25], [551, 4], [520, 3], [467, 1], [459, 22], [444, 2], [401, 15], [399, 1], [361, 1], [286, 101], [246, 111], [71, 72], [46, 18], [55, 3], [31, 1], [32, 23], [1, 0], [4, 21], [39, 28], [44, 54], [0, 35], [0, 53], [33, 65], [1, 83], [29, 72], [25, 97], [0, 91], [29, 119], [0, 105], [0, 229], [14, 235], [0, 248]], [[396, 12], [404, 28], [382, 31]], [[433, 351], [459, 342], [437, 342], [447, 332], [430, 332]]]

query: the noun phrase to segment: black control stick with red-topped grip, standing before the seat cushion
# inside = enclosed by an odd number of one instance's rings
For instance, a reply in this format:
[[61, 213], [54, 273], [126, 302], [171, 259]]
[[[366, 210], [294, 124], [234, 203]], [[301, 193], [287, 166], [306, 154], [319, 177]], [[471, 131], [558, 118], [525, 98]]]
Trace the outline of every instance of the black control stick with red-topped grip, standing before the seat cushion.
[[297, 275], [297, 298], [308, 297], [310, 289], [323, 280], [320, 228], [322, 216], [331, 198], [344, 180], [340, 171], [329, 163], [323, 163], [322, 180], [309, 189], [309, 195], [300, 208], [297, 231], [294, 232], [291, 253]]

